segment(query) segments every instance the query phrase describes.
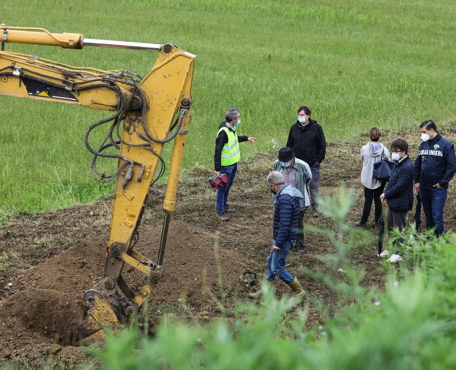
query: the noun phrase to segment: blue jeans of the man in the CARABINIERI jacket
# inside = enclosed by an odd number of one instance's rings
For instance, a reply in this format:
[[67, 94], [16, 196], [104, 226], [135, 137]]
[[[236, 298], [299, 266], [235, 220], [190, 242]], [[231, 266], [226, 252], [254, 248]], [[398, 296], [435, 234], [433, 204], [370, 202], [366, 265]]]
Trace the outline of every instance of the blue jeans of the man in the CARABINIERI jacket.
[[443, 208], [445, 207], [447, 195], [447, 189], [420, 188], [421, 203], [426, 215], [426, 228], [432, 229], [435, 227], [435, 234], [437, 236], [443, 234]]

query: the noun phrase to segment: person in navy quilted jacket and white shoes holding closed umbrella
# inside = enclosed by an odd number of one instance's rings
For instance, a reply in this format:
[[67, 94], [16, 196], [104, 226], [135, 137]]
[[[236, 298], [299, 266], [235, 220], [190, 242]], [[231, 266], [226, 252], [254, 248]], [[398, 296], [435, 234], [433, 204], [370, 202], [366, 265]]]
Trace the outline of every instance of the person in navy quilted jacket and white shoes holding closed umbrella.
[[[391, 158], [396, 164], [380, 199], [383, 203], [388, 201], [388, 230], [397, 227], [400, 231], [405, 227], [407, 212], [413, 208], [413, 162], [408, 156], [408, 144], [404, 139], [394, 140], [391, 150]], [[400, 260], [402, 257], [394, 253], [388, 261]]]

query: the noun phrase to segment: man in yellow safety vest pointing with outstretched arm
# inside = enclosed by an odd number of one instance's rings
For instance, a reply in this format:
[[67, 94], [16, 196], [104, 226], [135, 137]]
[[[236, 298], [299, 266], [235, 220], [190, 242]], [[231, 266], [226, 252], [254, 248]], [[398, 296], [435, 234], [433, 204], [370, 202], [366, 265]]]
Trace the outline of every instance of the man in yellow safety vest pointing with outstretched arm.
[[241, 159], [239, 152], [239, 143], [243, 141], [254, 142], [256, 138], [249, 136], [239, 136], [236, 133], [236, 127], [241, 124], [241, 111], [238, 108], [229, 108], [225, 113], [225, 120], [218, 127], [217, 139], [215, 139], [214, 168], [215, 176], [225, 174], [228, 178], [228, 184], [217, 189], [216, 204], [217, 217], [221, 221], [229, 221], [226, 213], [234, 213], [236, 210], [227, 207], [228, 195], [231, 185], [233, 185], [238, 162]]

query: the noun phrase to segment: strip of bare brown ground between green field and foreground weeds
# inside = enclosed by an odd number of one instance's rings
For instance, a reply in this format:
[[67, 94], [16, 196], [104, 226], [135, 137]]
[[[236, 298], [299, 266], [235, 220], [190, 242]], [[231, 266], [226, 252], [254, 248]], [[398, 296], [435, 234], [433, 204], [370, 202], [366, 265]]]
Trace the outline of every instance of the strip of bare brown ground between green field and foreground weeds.
[[[453, 142], [456, 139], [451, 125], [442, 134]], [[419, 137], [410, 131], [387, 132], [386, 144], [398, 136], [409, 140], [410, 153], [416, 153]], [[322, 195], [336, 195], [341, 183], [353, 187], [356, 202], [348, 214], [351, 224], [362, 210], [359, 168], [353, 168], [365, 141], [360, 137], [329, 144], [322, 167]], [[246, 286], [244, 273], [255, 272], [260, 280], [271, 248], [273, 207], [264, 178], [274, 159], [273, 154], [257, 154], [248, 167], [241, 163], [230, 193], [237, 213], [226, 223], [215, 218], [214, 193], [207, 184], [210, 172], [197, 168], [183, 173], [169, 228], [165, 275], [141, 315], [156, 322], [164, 314], [208, 320], [220, 315], [220, 305], [232, 308], [235, 299], [245, 300], [249, 291], [257, 289]], [[452, 230], [456, 230], [454, 182], [445, 209], [446, 228]], [[135, 247], [152, 260], [157, 258], [160, 242], [164, 191], [164, 186], [152, 188]], [[85, 358], [84, 351], [73, 347], [75, 333], [85, 315], [83, 294], [103, 274], [111, 203], [111, 198], [105, 198], [52, 213], [19, 216], [0, 227], [0, 361], [57, 355], [78, 363]], [[305, 224], [337, 230], [331, 219], [312, 218], [310, 213]], [[363, 285], [382, 289], [385, 273], [376, 257], [378, 230], [367, 230], [370, 238], [348, 257], [364, 270]], [[292, 251], [287, 268], [301, 280], [309, 299], [324, 303], [330, 297], [327, 286], [304, 274], [302, 268], [329, 271], [318, 256], [335, 253], [335, 248], [321, 233], [307, 232], [306, 241], [307, 253], [298, 256]], [[134, 270], [125, 269], [125, 275], [132, 287], [142, 283], [143, 276]], [[345, 279], [343, 274], [340, 279]], [[275, 286], [278, 296], [288, 293], [283, 283], [276, 281]], [[310, 309], [308, 325], [320, 321], [320, 314]]]

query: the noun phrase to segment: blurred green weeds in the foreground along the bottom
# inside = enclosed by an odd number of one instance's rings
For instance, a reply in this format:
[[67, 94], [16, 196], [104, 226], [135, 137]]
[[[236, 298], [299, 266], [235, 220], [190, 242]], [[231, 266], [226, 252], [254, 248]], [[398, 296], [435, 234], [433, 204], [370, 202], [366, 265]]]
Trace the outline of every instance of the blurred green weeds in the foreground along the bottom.
[[[106, 349], [95, 352], [103, 368], [454, 368], [456, 235], [419, 236], [414, 229], [399, 235], [402, 245], [397, 248], [404, 261], [390, 269], [384, 291], [372, 295], [360, 286], [362, 274], [346, 258], [354, 245], [353, 231], [345, 222], [352, 202], [341, 190], [338, 198], [322, 204], [323, 212], [339, 223], [332, 239], [337, 254], [324, 260], [333, 269], [346, 269], [348, 279], [340, 283], [332, 274], [316, 275], [335, 294], [329, 305], [346, 305], [328, 315], [321, 326], [306, 327], [312, 303], [298, 304], [286, 297], [278, 300], [264, 285], [261, 305], [239, 302], [235, 319], [222, 317], [206, 326], [164, 319], [152, 339], [138, 336], [134, 328], [119, 337], [109, 335]], [[394, 241], [395, 237], [390, 238]]]

